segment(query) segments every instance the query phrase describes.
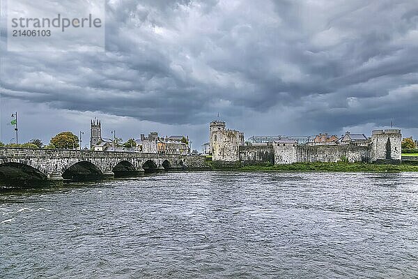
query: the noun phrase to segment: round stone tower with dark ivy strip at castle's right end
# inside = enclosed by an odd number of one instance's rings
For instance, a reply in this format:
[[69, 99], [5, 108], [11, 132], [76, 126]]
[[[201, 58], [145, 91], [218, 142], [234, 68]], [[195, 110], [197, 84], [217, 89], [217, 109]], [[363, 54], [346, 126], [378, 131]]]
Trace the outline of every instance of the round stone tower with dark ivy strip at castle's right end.
[[402, 160], [401, 130], [373, 130], [371, 134], [371, 161]]

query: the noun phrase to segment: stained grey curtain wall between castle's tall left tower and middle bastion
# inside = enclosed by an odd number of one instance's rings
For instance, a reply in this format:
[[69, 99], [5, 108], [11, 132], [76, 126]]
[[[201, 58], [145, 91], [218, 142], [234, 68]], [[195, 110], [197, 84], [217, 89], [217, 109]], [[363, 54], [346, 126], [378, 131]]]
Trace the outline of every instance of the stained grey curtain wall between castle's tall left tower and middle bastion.
[[245, 164], [274, 164], [273, 146], [240, 146], [240, 161]]

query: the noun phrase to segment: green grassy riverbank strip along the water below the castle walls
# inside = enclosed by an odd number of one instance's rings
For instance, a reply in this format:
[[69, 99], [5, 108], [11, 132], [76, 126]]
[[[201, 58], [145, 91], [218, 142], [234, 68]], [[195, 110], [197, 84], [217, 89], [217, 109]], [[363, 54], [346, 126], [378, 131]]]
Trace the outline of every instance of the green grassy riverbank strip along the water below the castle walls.
[[212, 165], [216, 170], [237, 170], [242, 172], [418, 172], [418, 165], [378, 165], [370, 163], [295, 163], [291, 165], [247, 165], [229, 167]]

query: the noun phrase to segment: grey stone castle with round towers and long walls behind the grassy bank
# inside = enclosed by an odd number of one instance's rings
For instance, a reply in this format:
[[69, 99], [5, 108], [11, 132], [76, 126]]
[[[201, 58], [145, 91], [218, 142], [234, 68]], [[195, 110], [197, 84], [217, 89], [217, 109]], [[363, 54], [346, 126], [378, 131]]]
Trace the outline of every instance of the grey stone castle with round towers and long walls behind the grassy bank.
[[[224, 121], [212, 121], [209, 153], [213, 161], [275, 165], [311, 162], [401, 162], [401, 130], [373, 130], [371, 138], [335, 144], [301, 144], [291, 138], [265, 144], [245, 144], [244, 133], [227, 130]], [[347, 137], [344, 136], [345, 139]]]

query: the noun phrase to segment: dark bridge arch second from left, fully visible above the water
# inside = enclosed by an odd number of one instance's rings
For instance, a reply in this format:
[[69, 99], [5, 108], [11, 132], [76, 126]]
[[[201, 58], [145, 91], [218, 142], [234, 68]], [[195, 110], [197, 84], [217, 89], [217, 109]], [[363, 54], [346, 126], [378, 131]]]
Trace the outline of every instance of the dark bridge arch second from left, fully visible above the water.
[[72, 181], [94, 180], [103, 177], [98, 166], [88, 160], [81, 160], [77, 163], [64, 167], [62, 170], [63, 179]]

